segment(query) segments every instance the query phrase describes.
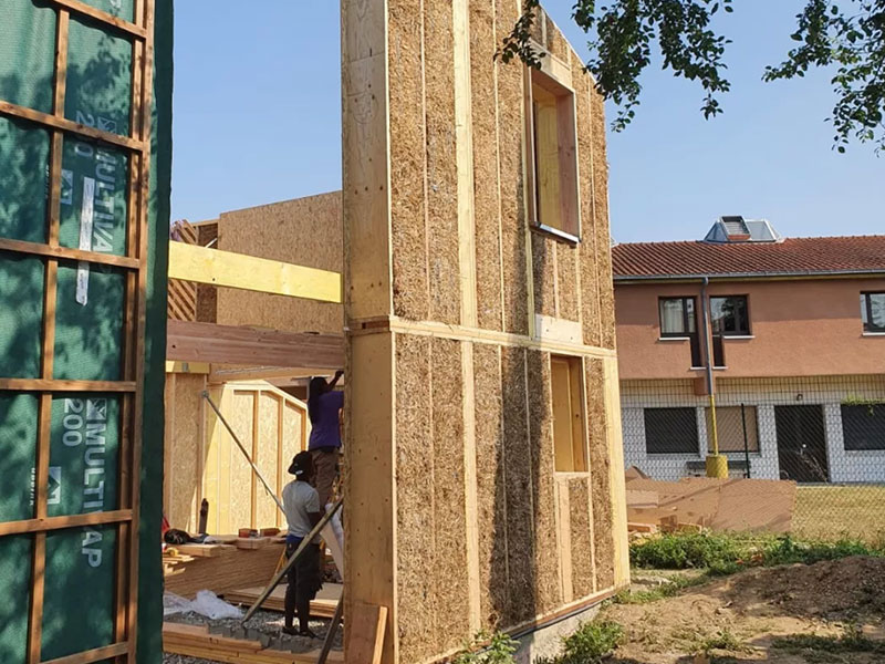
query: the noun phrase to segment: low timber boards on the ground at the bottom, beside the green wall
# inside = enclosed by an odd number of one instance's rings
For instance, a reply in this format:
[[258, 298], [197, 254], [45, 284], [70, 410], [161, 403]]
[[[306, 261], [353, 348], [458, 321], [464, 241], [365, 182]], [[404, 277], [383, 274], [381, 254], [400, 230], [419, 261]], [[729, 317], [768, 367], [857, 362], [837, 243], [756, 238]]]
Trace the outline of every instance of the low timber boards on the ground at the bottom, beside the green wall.
[[[229, 664], [314, 664], [320, 657], [319, 650], [292, 653], [266, 644], [267, 640], [210, 634], [205, 625], [163, 624], [163, 650], [167, 653]], [[344, 655], [340, 651], [330, 652], [326, 662], [343, 663]]]

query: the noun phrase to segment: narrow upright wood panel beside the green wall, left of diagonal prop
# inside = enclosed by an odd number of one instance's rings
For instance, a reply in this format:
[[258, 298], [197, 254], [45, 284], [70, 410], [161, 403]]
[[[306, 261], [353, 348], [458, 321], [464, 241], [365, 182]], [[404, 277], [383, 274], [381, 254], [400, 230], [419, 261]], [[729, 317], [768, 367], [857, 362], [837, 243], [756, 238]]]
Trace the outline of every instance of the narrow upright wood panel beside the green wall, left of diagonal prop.
[[171, 455], [169, 463], [171, 501], [169, 513], [166, 516], [173, 528], [183, 530], [195, 529], [197, 526], [197, 489], [201, 483], [197, 459], [202, 454], [200, 439], [202, 390], [202, 375], [176, 374], [173, 439], [166, 444], [166, 452]]

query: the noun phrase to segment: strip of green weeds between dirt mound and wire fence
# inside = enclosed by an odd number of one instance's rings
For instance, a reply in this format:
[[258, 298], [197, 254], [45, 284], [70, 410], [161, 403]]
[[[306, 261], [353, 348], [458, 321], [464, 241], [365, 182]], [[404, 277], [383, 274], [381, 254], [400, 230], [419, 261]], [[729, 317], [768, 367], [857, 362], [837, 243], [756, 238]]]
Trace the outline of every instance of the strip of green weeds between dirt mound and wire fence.
[[853, 539], [806, 541], [789, 536], [675, 532], [634, 542], [629, 554], [631, 563], [637, 568], [699, 569], [710, 575], [722, 575], [759, 566], [812, 564], [850, 556], [885, 556], [885, 546]]

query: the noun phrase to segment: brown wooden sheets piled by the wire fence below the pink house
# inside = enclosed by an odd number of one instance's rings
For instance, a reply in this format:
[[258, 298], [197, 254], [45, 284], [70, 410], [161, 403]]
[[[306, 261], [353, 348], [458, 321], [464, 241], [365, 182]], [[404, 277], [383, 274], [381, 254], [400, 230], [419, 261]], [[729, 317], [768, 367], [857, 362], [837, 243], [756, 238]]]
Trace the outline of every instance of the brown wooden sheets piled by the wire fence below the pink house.
[[627, 521], [633, 532], [711, 530], [790, 532], [795, 483], [777, 479], [685, 477], [659, 481], [626, 475]]

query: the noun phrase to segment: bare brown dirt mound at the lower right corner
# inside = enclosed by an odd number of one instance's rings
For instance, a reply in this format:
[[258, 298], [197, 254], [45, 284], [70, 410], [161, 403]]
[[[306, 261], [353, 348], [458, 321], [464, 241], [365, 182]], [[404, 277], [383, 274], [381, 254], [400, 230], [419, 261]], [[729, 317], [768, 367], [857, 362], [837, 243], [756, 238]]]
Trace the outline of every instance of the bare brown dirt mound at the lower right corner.
[[624, 664], [684, 664], [710, 651], [721, 662], [881, 664], [879, 652], [814, 660], [775, 644], [796, 635], [837, 640], [848, 625], [885, 641], [885, 559], [751, 569], [654, 602], [613, 603], [602, 616], [624, 626], [614, 658]]

